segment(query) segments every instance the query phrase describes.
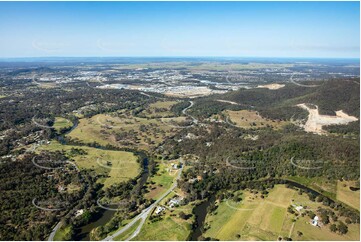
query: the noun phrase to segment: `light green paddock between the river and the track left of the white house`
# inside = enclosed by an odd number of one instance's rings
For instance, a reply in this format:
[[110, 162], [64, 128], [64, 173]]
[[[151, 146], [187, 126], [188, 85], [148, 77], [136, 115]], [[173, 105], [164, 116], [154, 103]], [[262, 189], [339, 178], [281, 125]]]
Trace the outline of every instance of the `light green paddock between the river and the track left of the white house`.
[[220, 240], [276, 240], [279, 234], [289, 229], [288, 226], [283, 228], [283, 220], [294, 194], [295, 191], [285, 186], [276, 186], [265, 199], [259, 194], [244, 191], [240, 203], [231, 200], [221, 202], [216, 214], [206, 218], [210, 228], [205, 237]]

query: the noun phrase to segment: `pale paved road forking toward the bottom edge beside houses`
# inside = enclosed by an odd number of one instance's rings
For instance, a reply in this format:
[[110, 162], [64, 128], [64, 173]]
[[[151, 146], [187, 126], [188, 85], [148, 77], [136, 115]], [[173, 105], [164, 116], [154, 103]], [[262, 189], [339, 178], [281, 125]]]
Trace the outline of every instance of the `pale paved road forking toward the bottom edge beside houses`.
[[132, 227], [138, 220], [142, 220], [141, 223], [139, 224], [138, 228], [134, 231], [134, 233], [128, 237], [126, 240], [131, 240], [132, 238], [134, 238], [135, 236], [137, 236], [140, 232], [140, 230], [142, 229], [145, 220], [147, 219], [148, 215], [150, 214], [150, 212], [157, 206], [157, 204], [162, 201], [169, 193], [171, 193], [178, 184], [178, 179], [180, 178], [182, 171], [183, 171], [183, 167], [184, 164], [182, 162], [181, 159], [181, 163], [182, 163], [182, 167], [179, 169], [179, 173], [175, 179], [175, 182], [173, 183], [173, 185], [160, 197], [157, 199], [157, 201], [155, 201], [152, 205], [150, 205], [149, 207], [143, 209], [143, 211], [138, 214], [130, 223], [128, 223], [127, 225], [125, 225], [122, 229], [120, 229], [119, 231], [117, 231], [116, 233], [114, 233], [113, 235], [110, 235], [108, 237], [106, 237], [105, 239], [103, 239], [103, 241], [111, 241], [113, 240], [115, 237], [121, 235], [122, 233], [124, 233], [126, 230], [128, 230], [130, 227]]

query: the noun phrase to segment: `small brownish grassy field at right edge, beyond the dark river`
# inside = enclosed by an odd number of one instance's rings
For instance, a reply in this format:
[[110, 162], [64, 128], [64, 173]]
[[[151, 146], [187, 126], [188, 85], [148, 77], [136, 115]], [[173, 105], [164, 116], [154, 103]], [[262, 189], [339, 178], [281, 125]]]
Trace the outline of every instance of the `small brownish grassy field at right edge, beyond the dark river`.
[[337, 200], [356, 208], [360, 211], [360, 190], [352, 191], [350, 187], [360, 187], [357, 181], [338, 181], [337, 182]]

